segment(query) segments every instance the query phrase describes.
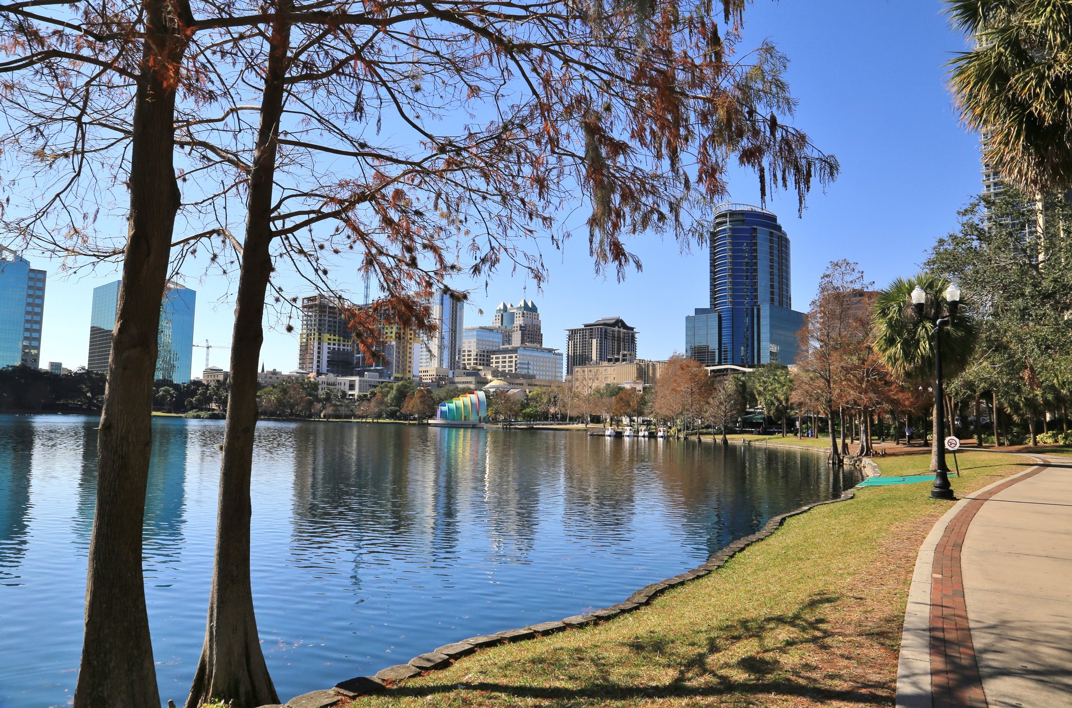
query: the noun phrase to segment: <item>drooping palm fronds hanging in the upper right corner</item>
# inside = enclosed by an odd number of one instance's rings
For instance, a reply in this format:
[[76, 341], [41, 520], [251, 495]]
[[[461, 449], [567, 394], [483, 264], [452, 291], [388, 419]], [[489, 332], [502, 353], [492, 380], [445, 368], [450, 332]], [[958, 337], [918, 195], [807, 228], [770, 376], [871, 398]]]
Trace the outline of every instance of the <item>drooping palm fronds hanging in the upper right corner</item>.
[[986, 136], [986, 161], [1038, 195], [1072, 186], [1072, 3], [946, 0], [976, 48], [949, 63], [961, 116]]

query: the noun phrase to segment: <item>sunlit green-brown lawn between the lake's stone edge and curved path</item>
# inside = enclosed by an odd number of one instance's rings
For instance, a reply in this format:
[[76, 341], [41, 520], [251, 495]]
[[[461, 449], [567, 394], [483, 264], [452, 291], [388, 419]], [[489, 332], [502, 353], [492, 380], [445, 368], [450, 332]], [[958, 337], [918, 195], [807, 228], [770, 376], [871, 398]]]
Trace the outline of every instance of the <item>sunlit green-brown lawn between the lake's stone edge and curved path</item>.
[[[878, 461], [896, 476], [928, 462]], [[965, 494], [1029, 465], [965, 453], [953, 486]], [[952, 503], [928, 486], [861, 489], [637, 612], [485, 649], [353, 706], [892, 706], [915, 554]]]

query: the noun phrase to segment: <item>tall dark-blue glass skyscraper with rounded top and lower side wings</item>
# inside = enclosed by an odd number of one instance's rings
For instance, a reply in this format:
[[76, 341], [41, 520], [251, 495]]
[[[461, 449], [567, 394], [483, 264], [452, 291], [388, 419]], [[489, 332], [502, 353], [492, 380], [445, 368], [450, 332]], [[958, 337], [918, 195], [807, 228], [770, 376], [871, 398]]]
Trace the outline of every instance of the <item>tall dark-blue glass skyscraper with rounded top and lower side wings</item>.
[[792, 308], [789, 237], [772, 212], [723, 205], [711, 235], [710, 306], [685, 317], [685, 352], [705, 366], [791, 364], [804, 315]]

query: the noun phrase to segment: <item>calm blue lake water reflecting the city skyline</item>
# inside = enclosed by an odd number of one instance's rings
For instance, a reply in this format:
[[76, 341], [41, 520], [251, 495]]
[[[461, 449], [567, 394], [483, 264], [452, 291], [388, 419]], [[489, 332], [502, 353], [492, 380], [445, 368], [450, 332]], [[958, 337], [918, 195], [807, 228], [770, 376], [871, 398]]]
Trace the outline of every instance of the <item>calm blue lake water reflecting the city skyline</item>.
[[[71, 702], [96, 425], [0, 416], [0, 706]], [[200, 653], [223, 424], [153, 421], [145, 575], [161, 697]], [[478, 634], [621, 602], [838, 496], [804, 451], [579, 433], [262, 423], [253, 593], [283, 701]]]

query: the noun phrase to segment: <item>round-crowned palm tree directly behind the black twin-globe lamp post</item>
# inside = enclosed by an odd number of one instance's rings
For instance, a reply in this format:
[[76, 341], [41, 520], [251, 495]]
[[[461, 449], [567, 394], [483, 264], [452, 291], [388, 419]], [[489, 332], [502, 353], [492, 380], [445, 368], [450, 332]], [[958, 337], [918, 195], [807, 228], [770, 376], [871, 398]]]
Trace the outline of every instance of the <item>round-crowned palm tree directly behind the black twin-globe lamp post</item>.
[[[910, 295], [915, 286], [927, 293], [922, 319], [912, 312]], [[946, 288], [950, 281], [941, 275], [920, 273], [914, 277], [898, 277], [875, 298], [875, 351], [897, 378], [925, 383], [935, 375], [935, 326], [932, 314], [936, 307], [947, 311]], [[976, 323], [963, 310], [949, 327], [943, 328], [941, 345], [942, 374], [950, 378], [964, 371], [976, 346]], [[937, 401], [935, 402], [937, 407]], [[934, 417], [934, 435], [938, 438], [938, 419]], [[930, 469], [938, 466], [933, 454]]]

